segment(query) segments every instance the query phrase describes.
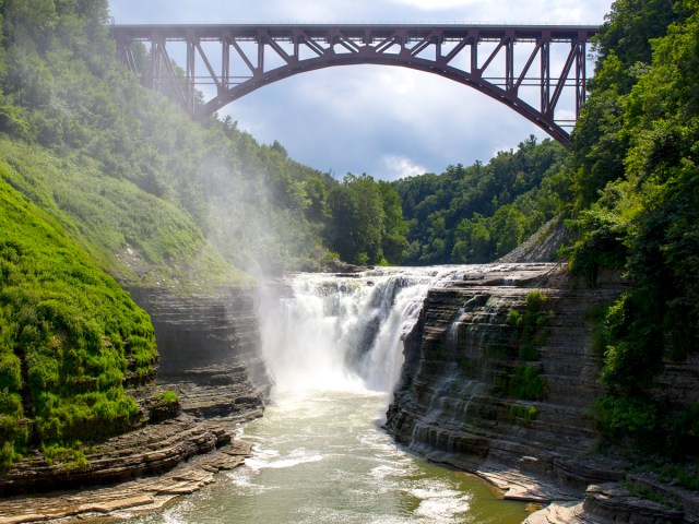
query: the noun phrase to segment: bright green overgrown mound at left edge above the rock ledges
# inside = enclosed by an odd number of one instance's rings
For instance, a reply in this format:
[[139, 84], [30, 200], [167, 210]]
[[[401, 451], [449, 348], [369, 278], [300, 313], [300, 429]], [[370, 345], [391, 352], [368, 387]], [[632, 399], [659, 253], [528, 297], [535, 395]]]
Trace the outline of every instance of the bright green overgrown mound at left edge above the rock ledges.
[[[16, 176], [5, 163], [0, 174]], [[0, 179], [0, 467], [139, 424], [123, 386], [151, 381], [156, 361], [147, 314]]]

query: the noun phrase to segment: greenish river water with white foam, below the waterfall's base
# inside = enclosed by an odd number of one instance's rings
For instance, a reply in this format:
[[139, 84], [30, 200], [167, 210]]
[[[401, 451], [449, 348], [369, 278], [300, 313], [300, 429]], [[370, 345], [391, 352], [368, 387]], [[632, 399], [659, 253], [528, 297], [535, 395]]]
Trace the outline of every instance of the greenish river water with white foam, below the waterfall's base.
[[241, 436], [254, 456], [158, 514], [129, 522], [235, 524], [520, 523], [524, 504], [427, 463], [380, 429], [382, 394], [286, 395]]

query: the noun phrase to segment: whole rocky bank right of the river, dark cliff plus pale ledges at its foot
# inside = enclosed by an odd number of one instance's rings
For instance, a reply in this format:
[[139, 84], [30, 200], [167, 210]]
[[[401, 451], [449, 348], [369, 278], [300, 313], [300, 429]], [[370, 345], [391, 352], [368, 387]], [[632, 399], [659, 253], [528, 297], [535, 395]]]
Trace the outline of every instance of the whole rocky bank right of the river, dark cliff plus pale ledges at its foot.
[[[625, 492], [618, 481], [628, 479], [628, 464], [597, 453], [592, 315], [621, 290], [614, 278], [578, 287], [562, 266], [545, 263], [474, 267], [431, 289], [405, 338], [387, 429], [427, 458], [489, 480], [505, 498], [550, 504], [531, 524], [697, 522], [696, 492], [679, 493], [682, 503], [668, 495], [665, 511]], [[661, 382], [691, 401], [696, 388], [687, 384], [698, 369], [667, 366]]]

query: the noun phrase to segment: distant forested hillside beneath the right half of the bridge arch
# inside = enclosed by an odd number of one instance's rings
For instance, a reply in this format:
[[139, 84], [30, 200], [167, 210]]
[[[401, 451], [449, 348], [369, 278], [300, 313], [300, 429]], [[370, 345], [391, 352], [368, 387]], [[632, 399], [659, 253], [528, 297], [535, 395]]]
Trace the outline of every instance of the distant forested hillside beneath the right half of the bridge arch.
[[565, 209], [565, 158], [561, 145], [530, 136], [487, 165], [395, 182], [410, 228], [404, 263], [482, 263], [507, 254]]

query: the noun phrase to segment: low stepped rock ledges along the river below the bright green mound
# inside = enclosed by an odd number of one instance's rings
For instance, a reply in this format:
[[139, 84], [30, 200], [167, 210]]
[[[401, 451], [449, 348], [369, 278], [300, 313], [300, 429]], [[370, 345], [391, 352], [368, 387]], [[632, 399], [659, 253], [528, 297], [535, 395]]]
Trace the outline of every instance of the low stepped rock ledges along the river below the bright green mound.
[[[150, 402], [153, 395], [142, 398], [150, 424], [82, 446], [86, 463], [70, 455], [47, 460], [37, 452], [15, 464], [0, 477], [0, 493], [5, 496], [0, 499], [0, 524], [146, 513], [213, 483], [215, 473], [242, 464], [250, 445], [234, 440], [235, 430], [262, 416], [264, 408], [262, 396], [251, 394], [244, 370], [191, 369], [181, 381], [162, 384], [161, 390], [176, 390], [179, 402], [161, 409]], [[26, 495], [34, 492], [46, 495]]]

